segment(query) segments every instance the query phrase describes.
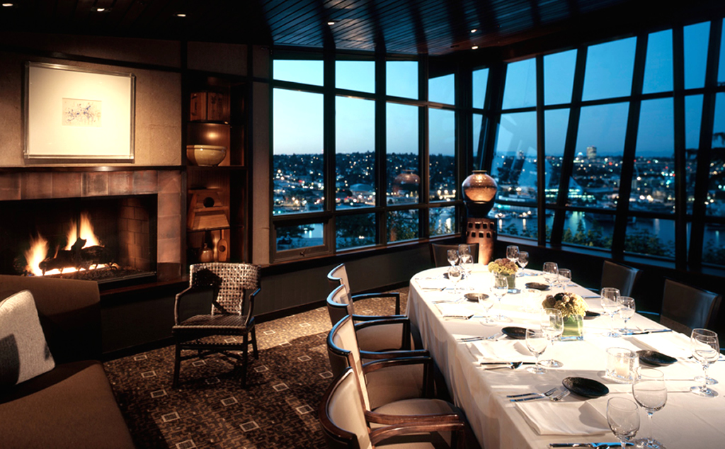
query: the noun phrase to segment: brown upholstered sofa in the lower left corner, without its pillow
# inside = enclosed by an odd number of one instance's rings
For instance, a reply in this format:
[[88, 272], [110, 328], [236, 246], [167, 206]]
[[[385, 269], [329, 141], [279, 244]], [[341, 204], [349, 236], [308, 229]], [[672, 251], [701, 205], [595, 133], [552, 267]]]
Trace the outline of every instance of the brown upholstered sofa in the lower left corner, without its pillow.
[[[92, 281], [0, 275], [0, 301], [22, 290], [32, 294], [54, 367], [23, 382], [8, 384], [7, 365], [8, 360], [12, 364], [12, 357], [4, 358], [0, 447], [133, 448], [133, 439], [98, 361], [98, 285]], [[25, 298], [25, 306], [31, 302], [28, 294], [17, 296]], [[7, 309], [6, 330], [12, 323], [12, 319], [7, 321], [7, 315], [12, 318]], [[4, 335], [6, 342], [14, 338], [7, 331]], [[0, 350], [7, 354], [9, 346], [0, 345]], [[18, 360], [22, 362], [22, 358]]]

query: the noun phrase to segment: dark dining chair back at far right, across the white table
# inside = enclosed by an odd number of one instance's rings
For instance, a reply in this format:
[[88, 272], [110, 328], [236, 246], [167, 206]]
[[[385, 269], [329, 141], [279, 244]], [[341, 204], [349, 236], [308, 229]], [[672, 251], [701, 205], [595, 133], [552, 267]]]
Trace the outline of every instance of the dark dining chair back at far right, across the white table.
[[715, 329], [722, 296], [665, 279], [660, 324], [689, 335], [692, 329]]

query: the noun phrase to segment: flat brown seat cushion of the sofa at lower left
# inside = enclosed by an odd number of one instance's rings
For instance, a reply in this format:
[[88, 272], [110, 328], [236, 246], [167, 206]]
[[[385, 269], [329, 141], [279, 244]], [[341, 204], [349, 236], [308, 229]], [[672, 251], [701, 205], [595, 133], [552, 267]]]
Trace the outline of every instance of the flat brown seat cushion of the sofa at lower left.
[[59, 364], [0, 397], [2, 448], [133, 448], [101, 363]]

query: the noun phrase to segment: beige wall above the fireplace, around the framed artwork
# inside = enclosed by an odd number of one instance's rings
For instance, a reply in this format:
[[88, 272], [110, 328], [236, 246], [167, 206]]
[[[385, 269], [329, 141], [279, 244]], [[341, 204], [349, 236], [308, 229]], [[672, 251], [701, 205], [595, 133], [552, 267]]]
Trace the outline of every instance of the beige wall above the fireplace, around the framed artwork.
[[[0, 33], [0, 42], [7, 46], [0, 46], [0, 167], [87, 165], [75, 162], [38, 162], [25, 160], [23, 157], [22, 102], [27, 61], [136, 75], [134, 160], [104, 165], [181, 164], [181, 74], [178, 72], [178, 43], [29, 33]], [[3, 51], [3, 48], [12, 48], [12, 52]], [[54, 52], [70, 59], [38, 57], [36, 51], [42, 52], [41, 54]], [[94, 62], [80, 59], [91, 59]], [[111, 64], [95, 63], [94, 59], [108, 59]], [[124, 65], [125, 62], [128, 62], [128, 66]], [[134, 67], [139, 63], [162, 65], [164, 70]], [[166, 67], [173, 71], [166, 71]]]

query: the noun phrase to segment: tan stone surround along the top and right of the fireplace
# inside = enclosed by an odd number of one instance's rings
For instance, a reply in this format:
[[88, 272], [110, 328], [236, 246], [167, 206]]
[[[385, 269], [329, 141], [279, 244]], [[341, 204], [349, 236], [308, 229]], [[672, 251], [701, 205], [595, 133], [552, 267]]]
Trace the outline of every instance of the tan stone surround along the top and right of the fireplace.
[[[7, 171], [6, 171], [7, 170]], [[157, 280], [182, 276], [182, 173], [179, 168], [0, 169], [2, 201], [157, 194]]]

